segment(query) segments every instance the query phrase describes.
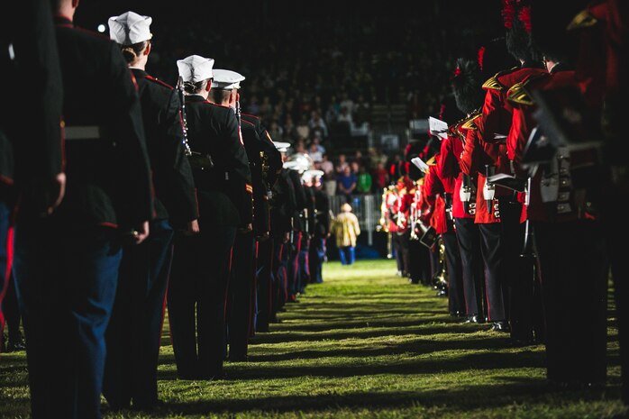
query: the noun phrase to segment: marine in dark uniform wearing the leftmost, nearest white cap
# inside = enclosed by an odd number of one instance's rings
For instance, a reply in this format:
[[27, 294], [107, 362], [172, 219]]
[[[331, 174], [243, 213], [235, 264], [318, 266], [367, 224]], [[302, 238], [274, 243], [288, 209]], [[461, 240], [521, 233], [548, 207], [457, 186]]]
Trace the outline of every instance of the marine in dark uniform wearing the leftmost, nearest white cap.
[[114, 409], [150, 410], [158, 402], [164, 297], [173, 229], [198, 232], [195, 183], [185, 155], [178, 92], [151, 77], [149, 16], [127, 12], [109, 19], [110, 37], [120, 45], [140, 96], [142, 121], [155, 190], [150, 237], [123, 250], [112, 320], [105, 335], [103, 393]]

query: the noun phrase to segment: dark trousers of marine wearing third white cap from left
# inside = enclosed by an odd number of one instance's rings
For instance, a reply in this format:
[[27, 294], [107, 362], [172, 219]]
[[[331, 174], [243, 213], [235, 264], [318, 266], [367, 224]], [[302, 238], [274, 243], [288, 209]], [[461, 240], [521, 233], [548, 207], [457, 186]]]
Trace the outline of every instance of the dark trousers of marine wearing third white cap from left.
[[255, 296], [255, 249], [253, 233], [237, 234], [233, 242], [232, 272], [227, 288], [227, 333], [230, 358], [247, 355]]

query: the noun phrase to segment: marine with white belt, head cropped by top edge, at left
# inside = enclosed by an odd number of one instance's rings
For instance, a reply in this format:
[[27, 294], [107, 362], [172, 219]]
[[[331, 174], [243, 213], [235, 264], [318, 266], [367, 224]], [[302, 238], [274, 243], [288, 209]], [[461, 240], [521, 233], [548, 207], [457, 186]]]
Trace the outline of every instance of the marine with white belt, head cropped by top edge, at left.
[[120, 49], [74, 26], [77, 3], [55, 5], [67, 189], [50, 217], [18, 225], [14, 274], [32, 416], [90, 419], [101, 416], [122, 244], [148, 235], [152, 185], [140, 101]]

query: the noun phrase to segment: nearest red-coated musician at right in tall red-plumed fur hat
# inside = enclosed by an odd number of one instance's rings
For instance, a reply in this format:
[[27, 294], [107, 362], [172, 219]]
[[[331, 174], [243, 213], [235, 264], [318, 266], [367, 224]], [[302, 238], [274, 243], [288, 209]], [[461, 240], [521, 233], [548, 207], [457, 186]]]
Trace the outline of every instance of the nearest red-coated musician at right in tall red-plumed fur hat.
[[[515, 106], [509, 138], [519, 172], [535, 173], [524, 214], [533, 223], [541, 267], [547, 378], [557, 387], [597, 387], [606, 381], [608, 279], [599, 215], [600, 150], [596, 142], [579, 144], [577, 138], [562, 142], [561, 132], [550, 130], [548, 121], [561, 126], [561, 131], [571, 128], [570, 137], [585, 133], [587, 141], [597, 139], [596, 131], [589, 130], [597, 124], [589, 124], [588, 114], [594, 113], [585, 105], [584, 85], [571, 66], [574, 40], [554, 26], [544, 28], [538, 43], [549, 72], [528, 77], [507, 92], [507, 100]], [[573, 113], [580, 103], [579, 118], [566, 123], [546, 107], [552, 101], [570, 104], [567, 109]], [[572, 123], [578, 130], [570, 127]], [[531, 135], [533, 128], [550, 146], [542, 147], [541, 137]], [[546, 161], [536, 152], [544, 148], [551, 150]]]

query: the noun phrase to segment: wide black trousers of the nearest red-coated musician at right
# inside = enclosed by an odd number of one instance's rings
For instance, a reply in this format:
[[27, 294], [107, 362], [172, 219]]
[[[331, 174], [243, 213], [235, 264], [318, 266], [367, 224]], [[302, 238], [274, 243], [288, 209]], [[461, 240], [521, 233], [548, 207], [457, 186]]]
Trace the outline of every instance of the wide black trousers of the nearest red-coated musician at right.
[[535, 223], [546, 315], [547, 377], [605, 383], [606, 245], [599, 223]]

